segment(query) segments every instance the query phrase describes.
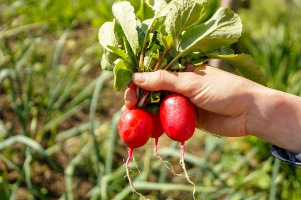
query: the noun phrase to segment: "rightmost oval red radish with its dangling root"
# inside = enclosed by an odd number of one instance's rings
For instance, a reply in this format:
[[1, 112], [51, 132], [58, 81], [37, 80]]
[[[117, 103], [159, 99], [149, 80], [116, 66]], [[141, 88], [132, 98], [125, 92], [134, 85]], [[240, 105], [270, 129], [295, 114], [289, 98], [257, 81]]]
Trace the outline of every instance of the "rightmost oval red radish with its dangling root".
[[166, 135], [174, 141], [181, 142], [180, 165], [187, 180], [193, 185], [193, 199], [195, 199], [196, 185], [189, 179], [184, 161], [185, 141], [193, 136], [196, 127], [194, 105], [186, 96], [172, 93], [163, 100], [160, 106], [160, 117]]

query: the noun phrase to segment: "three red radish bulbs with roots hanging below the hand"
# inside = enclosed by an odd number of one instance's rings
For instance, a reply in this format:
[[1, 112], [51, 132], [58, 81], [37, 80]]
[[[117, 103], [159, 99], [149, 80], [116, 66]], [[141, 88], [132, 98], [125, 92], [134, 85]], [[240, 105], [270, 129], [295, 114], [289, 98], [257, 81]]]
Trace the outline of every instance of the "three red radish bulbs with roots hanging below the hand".
[[[157, 114], [152, 112], [147, 113], [145, 110], [139, 108], [129, 109], [122, 114], [118, 124], [118, 131], [122, 141], [129, 147], [128, 158], [126, 160], [126, 174], [132, 190], [139, 194], [142, 199], [145, 199], [144, 196], [133, 188], [129, 177], [128, 163], [132, 157], [133, 149], [145, 145], [149, 138], [152, 137], [156, 139], [155, 153], [165, 164], [166, 161], [157, 152], [158, 138], [164, 132], [172, 140], [181, 142], [180, 164], [184, 169], [186, 178], [194, 186], [193, 198], [195, 199], [196, 185], [189, 179], [184, 162], [185, 141], [192, 137], [195, 127], [194, 105], [187, 97], [179, 93], [171, 93], [166, 96]], [[172, 168], [169, 169], [172, 170]]]

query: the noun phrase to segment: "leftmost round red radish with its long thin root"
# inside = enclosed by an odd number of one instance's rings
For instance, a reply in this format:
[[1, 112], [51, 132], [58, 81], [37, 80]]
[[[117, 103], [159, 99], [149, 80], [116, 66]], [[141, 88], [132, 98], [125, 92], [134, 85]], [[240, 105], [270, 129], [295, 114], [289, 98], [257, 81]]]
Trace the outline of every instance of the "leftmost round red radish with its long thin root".
[[146, 199], [141, 193], [134, 189], [131, 178], [129, 177], [129, 161], [133, 150], [146, 144], [153, 133], [154, 123], [150, 115], [138, 108], [125, 111], [118, 123], [118, 132], [121, 140], [128, 146], [128, 157], [126, 160], [126, 176], [133, 192], [137, 193], [141, 199]]

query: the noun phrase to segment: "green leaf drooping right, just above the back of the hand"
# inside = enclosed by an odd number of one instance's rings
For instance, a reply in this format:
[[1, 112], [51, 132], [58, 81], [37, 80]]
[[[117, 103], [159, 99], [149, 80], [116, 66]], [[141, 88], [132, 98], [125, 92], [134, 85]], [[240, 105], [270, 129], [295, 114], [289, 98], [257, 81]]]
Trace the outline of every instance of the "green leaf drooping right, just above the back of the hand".
[[[226, 51], [226, 53], [229, 52], [231, 52], [231, 50]], [[265, 77], [262, 71], [258, 67], [257, 62], [250, 55], [244, 53], [232, 55], [209, 53], [209, 55], [214, 59], [221, 59], [229, 62], [236, 67], [245, 78], [248, 78], [259, 84], [266, 85]]]

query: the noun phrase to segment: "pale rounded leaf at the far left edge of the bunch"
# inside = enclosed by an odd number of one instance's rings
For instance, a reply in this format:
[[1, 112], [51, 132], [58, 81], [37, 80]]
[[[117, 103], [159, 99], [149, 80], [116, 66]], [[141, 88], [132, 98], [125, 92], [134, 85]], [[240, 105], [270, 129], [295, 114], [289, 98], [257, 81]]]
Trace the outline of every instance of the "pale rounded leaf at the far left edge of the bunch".
[[101, 46], [109, 52], [113, 52], [107, 46], [118, 46], [118, 40], [114, 34], [115, 20], [113, 22], [105, 22], [99, 29], [98, 39]]

